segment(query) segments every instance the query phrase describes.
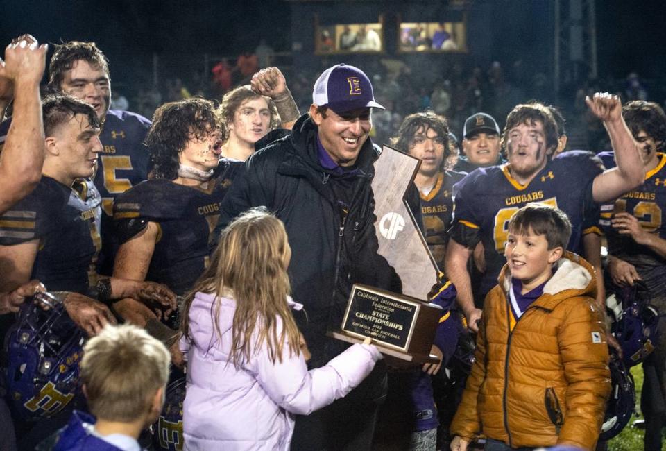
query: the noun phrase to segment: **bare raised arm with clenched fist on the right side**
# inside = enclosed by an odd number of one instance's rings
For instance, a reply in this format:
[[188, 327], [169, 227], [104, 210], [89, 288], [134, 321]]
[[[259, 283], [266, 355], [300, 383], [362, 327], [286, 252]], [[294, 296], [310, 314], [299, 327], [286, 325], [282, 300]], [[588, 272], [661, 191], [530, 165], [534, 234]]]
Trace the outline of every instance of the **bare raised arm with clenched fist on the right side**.
[[595, 202], [606, 202], [638, 187], [643, 182], [645, 169], [638, 143], [622, 118], [620, 98], [608, 92], [597, 92], [585, 101], [595, 116], [604, 121], [617, 162], [617, 167], [599, 174], [592, 184]]

